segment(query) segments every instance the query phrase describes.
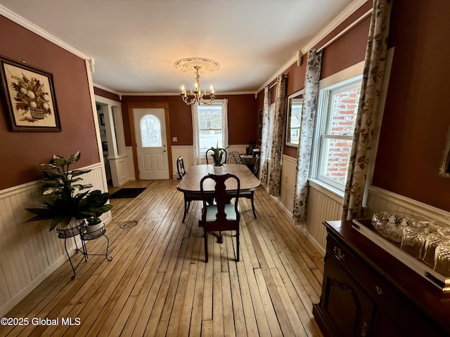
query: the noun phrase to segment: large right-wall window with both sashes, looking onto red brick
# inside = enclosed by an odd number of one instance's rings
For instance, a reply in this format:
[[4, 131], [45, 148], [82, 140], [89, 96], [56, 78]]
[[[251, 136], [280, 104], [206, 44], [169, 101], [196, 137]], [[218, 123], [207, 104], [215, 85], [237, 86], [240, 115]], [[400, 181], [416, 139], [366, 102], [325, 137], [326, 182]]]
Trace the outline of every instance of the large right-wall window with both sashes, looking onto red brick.
[[358, 110], [361, 76], [319, 91], [316, 178], [343, 191]]

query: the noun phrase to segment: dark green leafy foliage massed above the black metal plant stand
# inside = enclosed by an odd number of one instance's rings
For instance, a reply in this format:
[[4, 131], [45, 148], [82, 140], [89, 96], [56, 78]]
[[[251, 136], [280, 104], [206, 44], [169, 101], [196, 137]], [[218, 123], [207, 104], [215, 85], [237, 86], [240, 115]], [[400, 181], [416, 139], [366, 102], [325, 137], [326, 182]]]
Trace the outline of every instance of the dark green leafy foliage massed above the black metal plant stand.
[[81, 176], [91, 170], [72, 170], [70, 165], [79, 161], [79, 151], [69, 159], [53, 154], [47, 164], [41, 164], [41, 183], [44, 188], [44, 204], [38, 208], [27, 209], [34, 216], [27, 220], [51, 220], [50, 230], [56, 225], [67, 227], [72, 219], [87, 219], [96, 223], [101, 214], [110, 211], [113, 205], [107, 204], [110, 194], [101, 190], [90, 191], [91, 184], [80, 183]]

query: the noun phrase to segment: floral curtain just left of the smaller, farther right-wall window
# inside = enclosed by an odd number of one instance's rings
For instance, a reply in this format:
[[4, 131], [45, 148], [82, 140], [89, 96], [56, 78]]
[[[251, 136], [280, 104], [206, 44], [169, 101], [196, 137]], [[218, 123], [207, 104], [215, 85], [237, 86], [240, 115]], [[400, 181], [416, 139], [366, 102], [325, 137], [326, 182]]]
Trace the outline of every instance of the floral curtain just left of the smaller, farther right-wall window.
[[278, 76], [275, 93], [274, 128], [272, 132], [272, 147], [269, 169], [269, 194], [278, 197], [281, 185], [281, 150], [283, 149], [283, 135], [286, 115], [286, 82], [287, 77]]

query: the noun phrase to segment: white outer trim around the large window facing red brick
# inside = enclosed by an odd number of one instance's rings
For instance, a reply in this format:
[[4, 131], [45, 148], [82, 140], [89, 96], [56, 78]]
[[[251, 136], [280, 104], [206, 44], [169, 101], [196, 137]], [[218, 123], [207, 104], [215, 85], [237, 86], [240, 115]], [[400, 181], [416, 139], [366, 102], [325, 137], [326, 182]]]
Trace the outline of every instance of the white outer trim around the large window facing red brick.
[[[319, 161], [320, 161], [320, 145], [321, 145], [321, 130], [326, 124], [326, 118], [323, 117], [322, 110], [323, 105], [326, 103], [326, 97], [322, 97], [321, 90], [323, 89], [333, 89], [338, 88], [340, 86], [344, 86], [345, 84], [352, 83], [356, 80], [361, 80], [362, 73], [364, 71], [364, 61], [357, 63], [356, 65], [352, 65], [352, 67], [348, 67], [345, 70], [337, 72], [325, 79], [322, 79], [319, 82], [319, 105], [316, 114], [316, 123], [314, 126], [314, 138], [311, 152], [311, 166], [309, 169], [309, 179], [319, 183], [323, 187], [326, 187], [330, 192], [335, 193], [338, 197], [343, 197], [343, 187], [344, 184], [335, 183], [334, 181], [328, 181], [329, 179], [319, 180]], [[351, 135], [353, 136], [353, 135]], [[325, 180], [325, 181], [324, 181]]]

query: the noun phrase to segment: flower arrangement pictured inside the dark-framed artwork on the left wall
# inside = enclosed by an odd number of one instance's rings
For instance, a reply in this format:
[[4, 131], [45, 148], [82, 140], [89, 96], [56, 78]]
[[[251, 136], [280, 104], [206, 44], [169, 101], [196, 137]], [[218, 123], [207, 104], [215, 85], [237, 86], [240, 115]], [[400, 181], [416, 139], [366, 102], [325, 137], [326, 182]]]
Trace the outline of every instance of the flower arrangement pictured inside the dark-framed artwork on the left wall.
[[44, 92], [44, 84], [39, 79], [29, 79], [24, 74], [22, 78], [13, 76], [13, 79], [17, 80], [11, 84], [17, 91], [14, 98], [17, 110], [23, 110], [23, 114], [30, 110], [32, 119], [44, 119], [51, 114], [50, 95]]

